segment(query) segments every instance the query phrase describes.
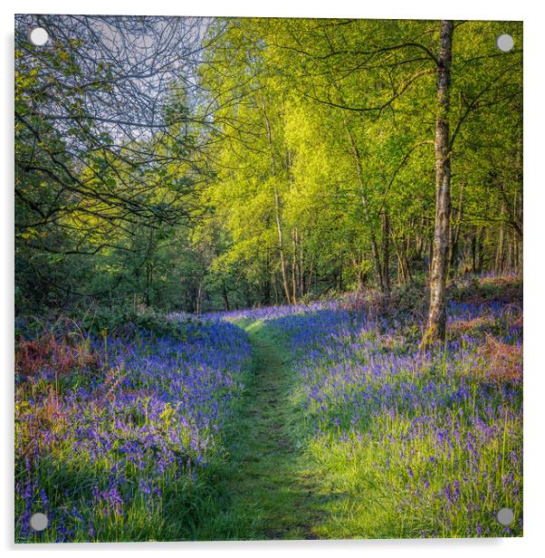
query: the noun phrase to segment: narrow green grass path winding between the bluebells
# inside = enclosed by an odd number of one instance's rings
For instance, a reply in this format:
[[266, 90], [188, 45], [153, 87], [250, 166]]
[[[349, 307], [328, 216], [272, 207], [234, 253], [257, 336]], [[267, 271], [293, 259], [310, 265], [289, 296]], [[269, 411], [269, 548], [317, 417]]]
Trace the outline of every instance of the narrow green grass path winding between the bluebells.
[[[234, 538], [315, 539], [320, 496], [295, 434], [301, 414], [290, 399], [289, 354], [273, 325], [246, 328], [253, 345], [253, 375], [230, 447], [232, 468], [225, 476]], [[225, 519], [227, 519], [225, 517]]]

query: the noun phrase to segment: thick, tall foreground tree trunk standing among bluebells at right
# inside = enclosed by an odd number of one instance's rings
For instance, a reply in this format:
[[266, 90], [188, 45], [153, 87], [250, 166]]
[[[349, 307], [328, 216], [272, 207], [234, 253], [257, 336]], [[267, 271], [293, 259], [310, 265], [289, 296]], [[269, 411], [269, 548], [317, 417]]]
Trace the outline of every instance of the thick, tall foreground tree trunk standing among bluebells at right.
[[435, 119], [435, 231], [430, 276], [430, 303], [422, 347], [445, 341], [446, 249], [450, 223], [450, 64], [454, 24], [441, 22], [441, 49], [437, 56], [437, 115]]

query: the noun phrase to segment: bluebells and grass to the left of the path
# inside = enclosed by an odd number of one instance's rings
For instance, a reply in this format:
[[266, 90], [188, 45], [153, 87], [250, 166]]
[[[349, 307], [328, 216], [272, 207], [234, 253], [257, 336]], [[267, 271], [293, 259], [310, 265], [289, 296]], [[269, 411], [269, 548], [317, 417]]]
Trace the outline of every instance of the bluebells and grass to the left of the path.
[[[198, 537], [249, 370], [244, 332], [191, 322], [177, 339], [136, 332], [63, 347], [47, 337], [17, 351], [17, 540]], [[29, 526], [36, 510], [50, 519], [43, 533]]]

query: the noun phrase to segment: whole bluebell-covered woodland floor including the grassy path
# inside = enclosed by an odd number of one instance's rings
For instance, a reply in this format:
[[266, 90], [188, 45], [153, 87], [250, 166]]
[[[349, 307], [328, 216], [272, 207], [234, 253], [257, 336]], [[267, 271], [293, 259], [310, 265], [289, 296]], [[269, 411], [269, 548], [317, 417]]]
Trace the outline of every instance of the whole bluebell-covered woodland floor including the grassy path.
[[[110, 335], [108, 351], [21, 339], [16, 540], [521, 536], [521, 282], [483, 277], [452, 297], [448, 342], [424, 356], [401, 298], [378, 321], [272, 307]], [[76, 350], [86, 365], [59, 357]], [[104, 358], [129, 372], [112, 399]], [[31, 464], [33, 440], [50, 438]]]

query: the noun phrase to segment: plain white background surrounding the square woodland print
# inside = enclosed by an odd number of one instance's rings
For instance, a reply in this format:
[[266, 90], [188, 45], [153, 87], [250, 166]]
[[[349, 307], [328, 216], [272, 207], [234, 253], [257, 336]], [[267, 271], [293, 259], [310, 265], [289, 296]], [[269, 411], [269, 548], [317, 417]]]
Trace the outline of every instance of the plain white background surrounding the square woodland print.
[[[545, 546], [540, 537], [545, 533], [545, 497], [543, 494], [543, 429], [541, 424], [542, 408], [545, 398], [545, 367], [540, 361], [543, 342], [543, 284], [545, 265], [543, 265], [542, 221], [544, 205], [544, 185], [542, 159], [544, 91], [543, 87], [543, 9], [538, 2], [517, 0], [511, 2], [477, 2], [475, 0], [456, 0], [455, 2], [432, 2], [425, 0], [390, 0], [389, 2], [359, 2], [336, 0], [335, 2], [299, 2], [275, 0], [271, 4], [233, 0], [229, 3], [220, 0], [200, 0], [198, 3], [166, 2], [154, 0], [148, 5], [138, 5], [129, 0], [94, 0], [92, 3], [74, 3], [67, 0], [20, 0], [13, 9], [2, 6], [2, 61], [4, 62], [2, 96], [2, 122], [0, 141], [2, 146], [1, 168], [4, 180], [0, 187], [3, 213], [0, 219], [2, 231], [3, 289], [0, 306], [2, 325], [2, 354], [5, 366], [3, 373], [2, 395], [4, 403], [0, 416], [2, 429], [6, 436], [3, 457], [0, 459], [4, 486], [0, 494], [4, 502], [0, 507], [0, 528], [2, 546], [5, 550], [18, 553], [36, 551], [106, 551], [120, 555], [146, 552], [174, 551], [203, 555], [222, 553], [224, 555], [253, 555], [256, 553], [317, 554], [343, 553], [362, 556], [364, 553], [385, 556], [431, 556], [440, 553], [450, 555], [479, 555], [494, 557], [509, 556], [518, 558], [521, 553], [531, 556]], [[14, 13], [51, 13], [51, 14], [165, 14], [165, 15], [232, 15], [232, 16], [292, 16], [292, 17], [367, 17], [367, 18], [404, 18], [404, 19], [494, 19], [524, 21], [524, 295], [525, 295], [525, 385], [524, 385], [524, 537], [521, 539], [481, 539], [481, 540], [435, 540], [435, 541], [309, 541], [309, 542], [268, 542], [268, 543], [165, 543], [165, 544], [65, 544], [65, 545], [17, 545], [13, 544], [13, 182], [14, 182], [14, 143], [13, 143], [13, 36]]]

